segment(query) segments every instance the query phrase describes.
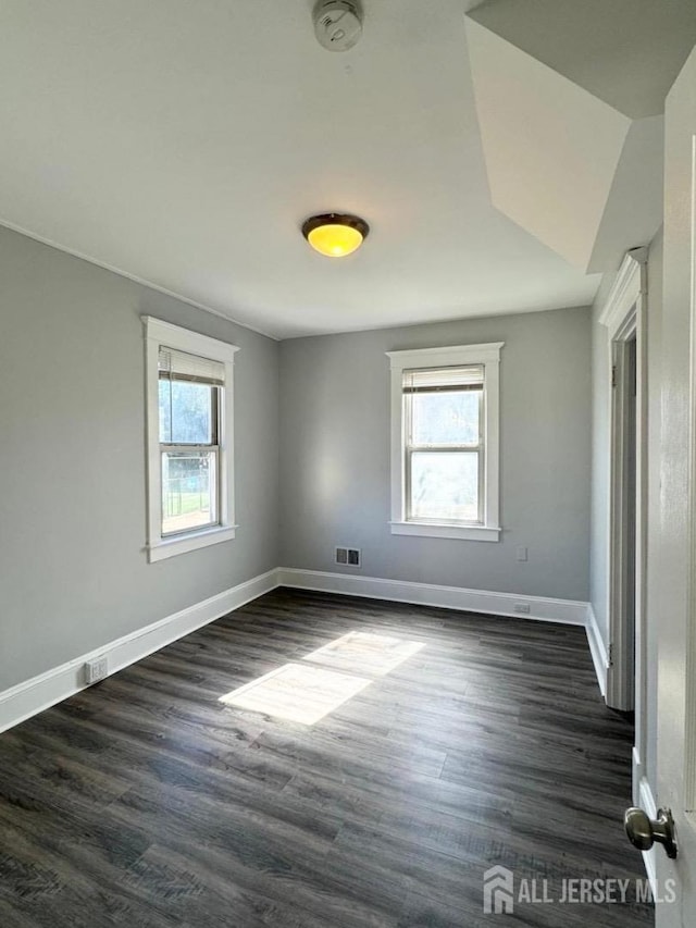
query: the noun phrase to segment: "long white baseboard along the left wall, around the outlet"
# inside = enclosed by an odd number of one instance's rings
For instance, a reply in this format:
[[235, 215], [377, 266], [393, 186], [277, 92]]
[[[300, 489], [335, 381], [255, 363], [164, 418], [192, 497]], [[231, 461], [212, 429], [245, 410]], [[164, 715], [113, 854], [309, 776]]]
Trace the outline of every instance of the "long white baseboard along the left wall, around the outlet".
[[115, 673], [164, 645], [238, 609], [263, 593], [269, 593], [277, 585], [277, 570], [270, 570], [5, 690], [0, 693], [0, 731], [18, 725], [84, 690], [86, 684], [83, 665], [86, 660], [105, 655], [109, 660], [109, 673]]

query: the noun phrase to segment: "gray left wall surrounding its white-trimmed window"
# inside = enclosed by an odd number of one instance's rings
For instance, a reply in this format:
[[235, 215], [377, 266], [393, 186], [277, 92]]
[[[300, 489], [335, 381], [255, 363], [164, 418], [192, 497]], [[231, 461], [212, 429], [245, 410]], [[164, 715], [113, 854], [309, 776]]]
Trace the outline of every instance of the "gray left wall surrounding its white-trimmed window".
[[[151, 565], [141, 314], [241, 348], [237, 537]], [[0, 228], [0, 691], [277, 566], [277, 347]]]

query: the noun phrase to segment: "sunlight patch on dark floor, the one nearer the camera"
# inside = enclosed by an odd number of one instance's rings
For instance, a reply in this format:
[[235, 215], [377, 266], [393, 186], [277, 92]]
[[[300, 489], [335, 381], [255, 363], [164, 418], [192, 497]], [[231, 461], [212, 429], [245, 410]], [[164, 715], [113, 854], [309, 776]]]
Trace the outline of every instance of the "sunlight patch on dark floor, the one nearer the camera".
[[286, 664], [221, 696], [220, 702], [288, 721], [314, 725], [371, 682], [307, 664]]

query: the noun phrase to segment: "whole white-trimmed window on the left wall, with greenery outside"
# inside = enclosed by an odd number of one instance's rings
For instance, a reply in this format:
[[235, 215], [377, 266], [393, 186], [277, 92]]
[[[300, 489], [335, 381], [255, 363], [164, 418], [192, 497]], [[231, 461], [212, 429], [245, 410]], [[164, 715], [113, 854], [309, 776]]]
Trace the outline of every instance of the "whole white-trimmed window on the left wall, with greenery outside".
[[234, 345], [144, 318], [148, 556], [161, 560], [235, 536]]

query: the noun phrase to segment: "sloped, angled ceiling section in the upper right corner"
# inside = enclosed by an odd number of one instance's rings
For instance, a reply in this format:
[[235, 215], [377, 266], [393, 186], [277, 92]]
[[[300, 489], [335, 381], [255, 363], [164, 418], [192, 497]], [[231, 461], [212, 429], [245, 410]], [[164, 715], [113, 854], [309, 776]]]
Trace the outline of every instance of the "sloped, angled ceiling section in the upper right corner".
[[661, 113], [696, 3], [490, 0], [468, 37], [494, 205], [574, 267], [616, 269], [661, 222]]

